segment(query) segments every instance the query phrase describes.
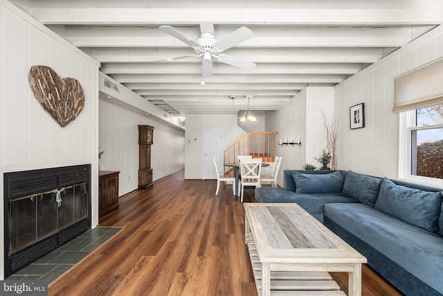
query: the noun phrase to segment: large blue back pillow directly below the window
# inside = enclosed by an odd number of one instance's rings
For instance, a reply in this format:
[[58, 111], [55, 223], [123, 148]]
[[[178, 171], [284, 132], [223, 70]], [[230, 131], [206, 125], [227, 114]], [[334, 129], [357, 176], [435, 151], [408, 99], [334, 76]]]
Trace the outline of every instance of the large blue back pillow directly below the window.
[[442, 195], [440, 192], [400, 186], [385, 177], [375, 207], [408, 223], [437, 232]]

